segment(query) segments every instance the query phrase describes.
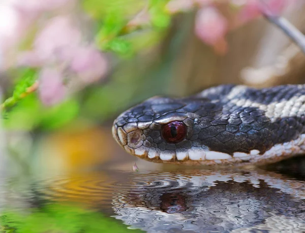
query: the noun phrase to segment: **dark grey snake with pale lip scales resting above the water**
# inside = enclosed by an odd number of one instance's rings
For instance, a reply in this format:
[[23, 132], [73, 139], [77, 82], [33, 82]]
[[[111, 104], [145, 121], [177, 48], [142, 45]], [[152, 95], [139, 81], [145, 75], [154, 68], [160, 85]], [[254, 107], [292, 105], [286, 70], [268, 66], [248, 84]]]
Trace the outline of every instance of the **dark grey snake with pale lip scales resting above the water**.
[[128, 153], [156, 163], [276, 163], [305, 152], [305, 85], [155, 96], [121, 113], [112, 134]]

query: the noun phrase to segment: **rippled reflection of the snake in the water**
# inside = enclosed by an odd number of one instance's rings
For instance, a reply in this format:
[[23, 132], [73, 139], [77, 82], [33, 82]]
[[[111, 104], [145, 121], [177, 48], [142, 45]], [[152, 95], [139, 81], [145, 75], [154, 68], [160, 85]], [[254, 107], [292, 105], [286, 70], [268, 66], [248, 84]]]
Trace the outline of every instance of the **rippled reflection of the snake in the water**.
[[151, 172], [132, 177], [144, 179], [148, 185], [119, 192], [112, 202], [113, 217], [132, 228], [147, 232], [305, 229], [303, 181], [262, 171]]

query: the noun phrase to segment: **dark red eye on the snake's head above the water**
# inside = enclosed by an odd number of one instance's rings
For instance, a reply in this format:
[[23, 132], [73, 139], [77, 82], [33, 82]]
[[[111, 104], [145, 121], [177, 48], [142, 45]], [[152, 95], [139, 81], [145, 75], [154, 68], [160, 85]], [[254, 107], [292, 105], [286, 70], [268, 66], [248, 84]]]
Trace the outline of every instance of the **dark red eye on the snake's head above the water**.
[[162, 137], [169, 143], [182, 141], [187, 134], [187, 127], [182, 122], [170, 122], [162, 126]]

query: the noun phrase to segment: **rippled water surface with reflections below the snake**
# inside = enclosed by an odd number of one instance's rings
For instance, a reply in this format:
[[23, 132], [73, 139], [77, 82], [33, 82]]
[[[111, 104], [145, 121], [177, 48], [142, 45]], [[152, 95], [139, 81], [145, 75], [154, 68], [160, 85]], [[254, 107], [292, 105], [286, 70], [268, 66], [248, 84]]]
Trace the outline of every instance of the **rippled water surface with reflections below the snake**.
[[[305, 232], [303, 161], [271, 169], [105, 168], [25, 183], [8, 178], [2, 181], [2, 227], [7, 232]], [[26, 224], [31, 230], [23, 229]]]

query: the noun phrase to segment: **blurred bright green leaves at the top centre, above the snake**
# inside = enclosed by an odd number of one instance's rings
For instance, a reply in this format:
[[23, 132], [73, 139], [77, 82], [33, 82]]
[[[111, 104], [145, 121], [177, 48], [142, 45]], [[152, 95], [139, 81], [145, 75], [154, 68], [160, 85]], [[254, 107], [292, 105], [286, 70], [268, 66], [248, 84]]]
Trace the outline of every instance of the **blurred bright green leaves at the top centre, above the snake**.
[[[154, 30], [162, 32], [169, 26], [171, 17], [165, 10], [168, 0], [153, 0], [149, 2], [147, 9], [147, 14], [151, 19], [150, 23], [145, 27], [128, 28], [128, 22], [145, 9], [143, 3], [144, 1], [134, 0], [83, 1], [86, 12], [98, 19], [96, 44], [101, 50], [111, 51], [124, 57], [133, 56], [138, 51], [135, 47], [136, 43], [133, 41], [141, 36], [139, 33], [136, 36], [129, 36], [133, 34], [134, 30], [143, 29], [143, 34], [145, 34]], [[158, 37], [161, 38], [161, 36]], [[143, 45], [143, 43], [141, 44]], [[142, 49], [149, 45], [151, 46], [151, 44], [143, 45]]]

